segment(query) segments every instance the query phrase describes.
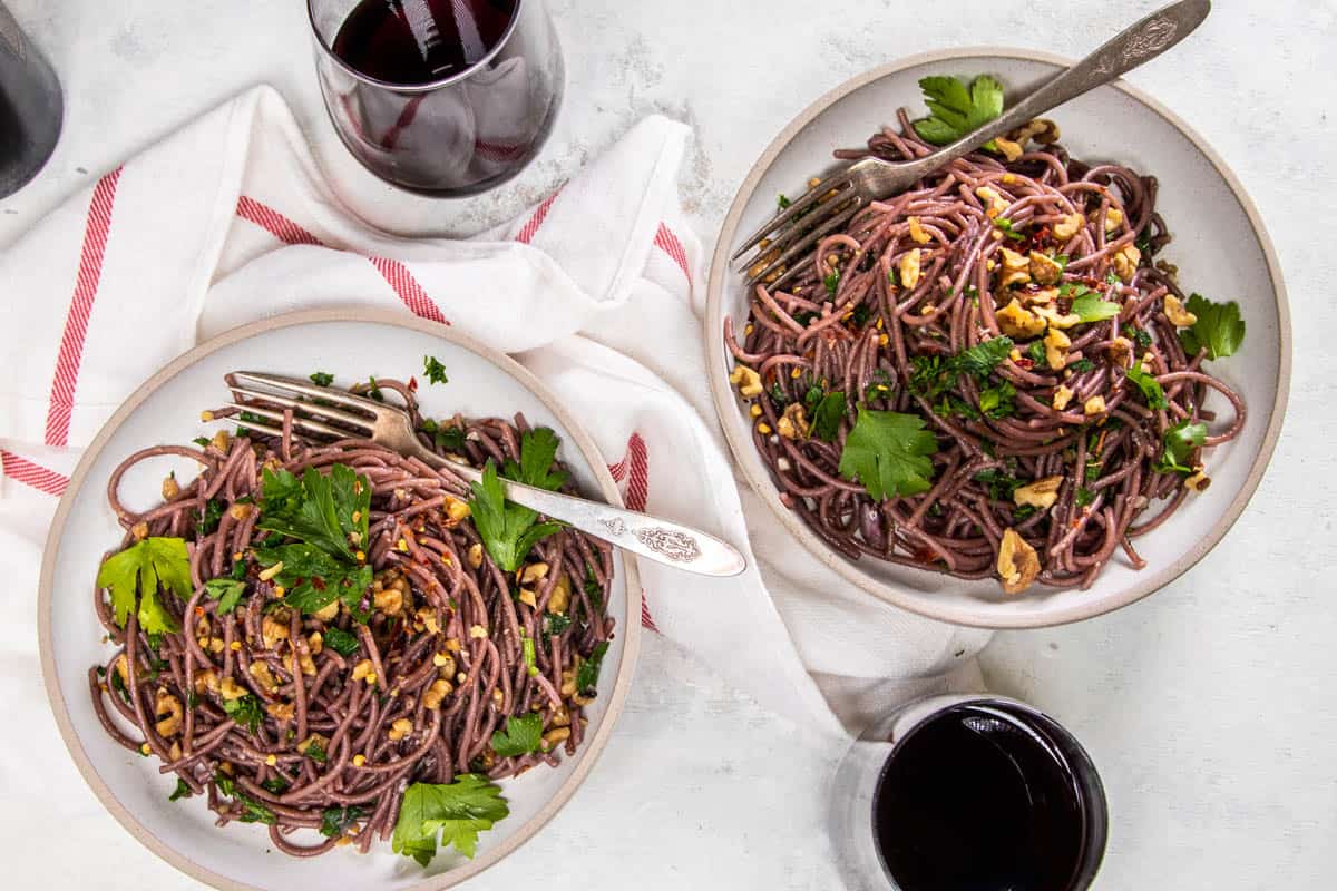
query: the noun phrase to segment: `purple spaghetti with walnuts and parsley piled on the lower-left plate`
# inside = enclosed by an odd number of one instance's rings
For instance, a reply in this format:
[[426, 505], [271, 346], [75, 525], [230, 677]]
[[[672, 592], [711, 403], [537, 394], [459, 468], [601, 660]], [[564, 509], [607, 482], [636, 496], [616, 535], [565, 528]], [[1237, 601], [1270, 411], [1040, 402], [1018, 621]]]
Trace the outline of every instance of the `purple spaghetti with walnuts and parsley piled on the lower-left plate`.
[[[551, 430], [436, 423], [410, 386], [378, 387], [439, 453], [570, 490]], [[406, 793], [483, 789], [480, 812], [500, 819], [491, 780], [575, 753], [614, 632], [610, 546], [500, 497], [527, 534], [493, 541], [479, 489], [370, 442], [197, 442], [132, 454], [111, 477], [126, 533], [94, 606], [114, 651], [88, 672], [103, 727], [176, 779], [174, 800], [201, 796], [219, 826], [265, 823], [297, 856], [393, 834], [425, 863], [435, 830], [404, 826]], [[159, 456], [203, 469], [131, 510], [123, 474]]]

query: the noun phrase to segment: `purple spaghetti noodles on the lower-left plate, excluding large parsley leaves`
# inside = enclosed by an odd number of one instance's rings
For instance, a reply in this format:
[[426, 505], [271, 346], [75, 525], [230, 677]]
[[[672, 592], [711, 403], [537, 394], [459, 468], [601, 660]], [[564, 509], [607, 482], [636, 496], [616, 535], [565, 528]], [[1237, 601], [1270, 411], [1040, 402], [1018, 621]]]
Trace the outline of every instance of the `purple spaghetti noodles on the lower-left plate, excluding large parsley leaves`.
[[[412, 387], [380, 386], [404, 395], [421, 421]], [[475, 465], [519, 461], [527, 429], [523, 417], [513, 425], [456, 417], [444, 426], [460, 430]], [[365, 852], [374, 839], [388, 840], [412, 783], [451, 783], [467, 772], [515, 776], [556, 765], [560, 751], [574, 755], [591, 701], [576, 677], [614, 633], [604, 612], [612, 549], [562, 529], [535, 545], [517, 573], [504, 573], [472, 520], [460, 516], [469, 492], [460, 477], [370, 442], [308, 445], [291, 438], [290, 422], [283, 430], [281, 438], [221, 434], [203, 449], [144, 449], [112, 474], [108, 500], [126, 529], [116, 552], [150, 536], [183, 537], [193, 593], [180, 600], [160, 592], [180, 631], [146, 635], [135, 610], [122, 628], [106, 593], [94, 592], [115, 648], [88, 671], [107, 733], [156, 757], [159, 772], [179, 777], [180, 793], [203, 795], [219, 826], [269, 823], [275, 847], [294, 856], [337, 844]], [[425, 434], [422, 442], [432, 446]], [[118, 496], [124, 472], [166, 454], [194, 458], [203, 470], [185, 486], [164, 481], [155, 508], [126, 508]], [[340, 601], [312, 614], [285, 606], [251, 550], [273, 534], [257, 530], [262, 470], [328, 474], [336, 464], [373, 489], [365, 624]], [[211, 501], [221, 514], [206, 530]], [[205, 585], [238, 577], [247, 598], [219, 614], [221, 601]], [[254, 727], [229, 711], [242, 696], [259, 705]], [[544, 745], [497, 755], [493, 732], [529, 715], [541, 719]], [[322, 820], [328, 827], [330, 810], [341, 816], [334, 834], [293, 838], [321, 830]]]

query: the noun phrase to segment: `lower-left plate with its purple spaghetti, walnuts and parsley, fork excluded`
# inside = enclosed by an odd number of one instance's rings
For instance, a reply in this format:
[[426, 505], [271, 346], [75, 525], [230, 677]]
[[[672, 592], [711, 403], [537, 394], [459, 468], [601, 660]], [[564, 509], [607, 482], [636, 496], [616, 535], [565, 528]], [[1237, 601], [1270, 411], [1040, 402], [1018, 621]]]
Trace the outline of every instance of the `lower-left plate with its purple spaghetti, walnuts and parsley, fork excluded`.
[[[397, 403], [483, 481], [239, 411], [239, 369]], [[108, 811], [221, 888], [441, 888], [533, 836], [622, 708], [639, 588], [503, 477], [618, 498], [540, 381], [428, 322], [279, 317], [144, 383], [40, 589], [52, 709]]]

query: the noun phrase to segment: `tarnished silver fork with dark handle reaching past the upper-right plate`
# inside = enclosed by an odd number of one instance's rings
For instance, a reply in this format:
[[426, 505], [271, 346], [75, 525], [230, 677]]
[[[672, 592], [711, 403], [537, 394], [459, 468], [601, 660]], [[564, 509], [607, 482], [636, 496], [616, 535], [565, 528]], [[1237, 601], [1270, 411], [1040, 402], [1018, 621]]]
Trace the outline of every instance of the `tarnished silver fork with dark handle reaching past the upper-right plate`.
[[[731, 262], [738, 263], [743, 254], [758, 248], [757, 255], [737, 267], [739, 271], [750, 269], [747, 286], [753, 287], [777, 273], [767, 283], [785, 283], [804, 269], [802, 259], [813, 252], [817, 242], [848, 223], [860, 208], [905, 191], [995, 136], [1016, 130], [1051, 108], [1155, 59], [1187, 37], [1209, 12], [1210, 0], [1182, 0], [1152, 12], [1082, 61], [1055, 75], [1001, 116], [924, 158], [906, 162], [864, 158], [854, 162], [810, 187], [802, 198], [757, 230], [734, 252]], [[770, 235], [774, 238], [767, 238]]]

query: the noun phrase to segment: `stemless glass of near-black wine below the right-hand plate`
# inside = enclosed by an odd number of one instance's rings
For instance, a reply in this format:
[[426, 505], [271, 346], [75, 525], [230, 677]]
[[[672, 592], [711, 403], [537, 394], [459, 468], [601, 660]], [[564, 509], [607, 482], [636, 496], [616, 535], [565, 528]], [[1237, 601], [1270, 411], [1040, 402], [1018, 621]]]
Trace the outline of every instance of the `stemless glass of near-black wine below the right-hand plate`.
[[941, 696], [870, 727], [836, 776], [852, 891], [1084, 891], [1107, 834], [1090, 756], [1009, 699]]

